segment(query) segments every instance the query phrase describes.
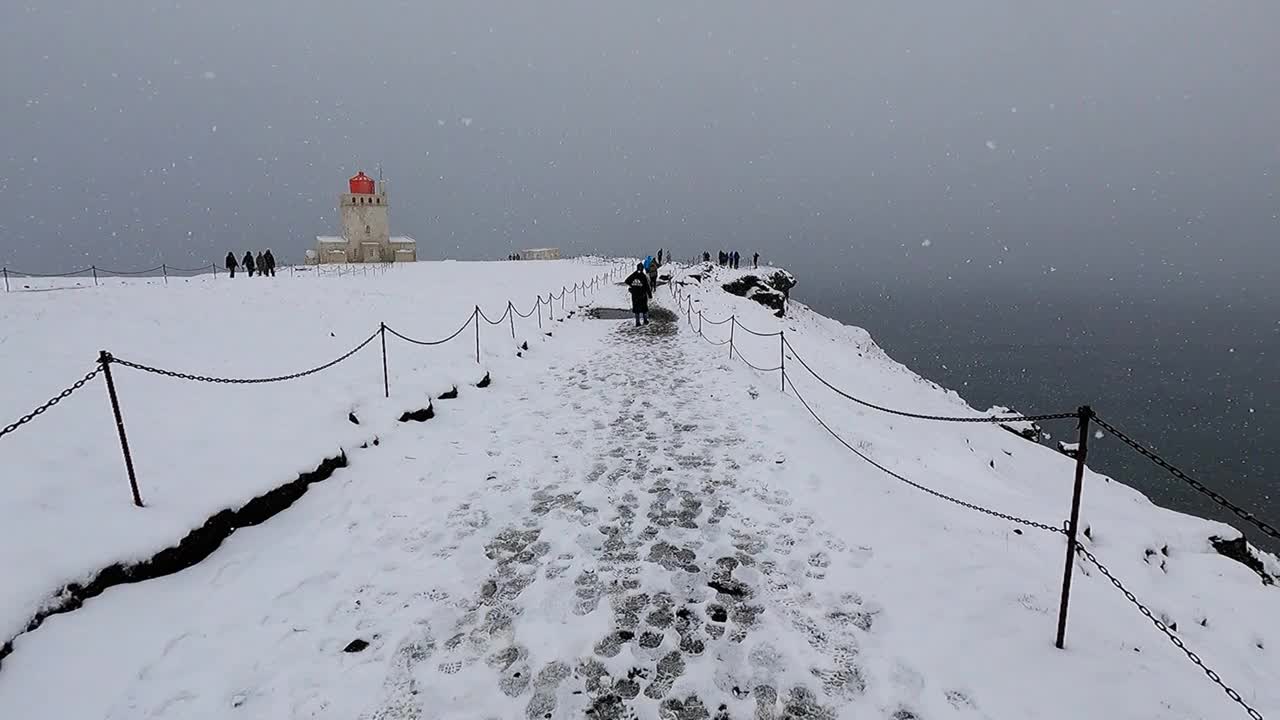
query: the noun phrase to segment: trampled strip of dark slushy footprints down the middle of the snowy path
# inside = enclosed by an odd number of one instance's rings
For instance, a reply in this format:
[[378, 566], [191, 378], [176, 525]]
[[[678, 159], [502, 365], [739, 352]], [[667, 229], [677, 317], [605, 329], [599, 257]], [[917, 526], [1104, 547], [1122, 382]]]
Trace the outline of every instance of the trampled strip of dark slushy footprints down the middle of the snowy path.
[[741, 375], [687, 340], [621, 327], [553, 366], [572, 413], [512, 404], [493, 438], [520, 452], [489, 452], [433, 550], [484, 577], [402, 619], [366, 717], [836, 717], [867, 693], [879, 609], [823, 584], [869, 548], [791, 509], [777, 448], [722, 392]]

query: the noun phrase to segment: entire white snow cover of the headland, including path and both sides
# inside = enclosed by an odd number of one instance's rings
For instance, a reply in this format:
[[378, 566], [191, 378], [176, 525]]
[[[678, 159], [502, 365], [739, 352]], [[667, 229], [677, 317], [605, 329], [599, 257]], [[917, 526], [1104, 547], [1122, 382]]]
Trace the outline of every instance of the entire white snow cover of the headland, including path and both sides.
[[[179, 370], [289, 372], [379, 322], [443, 337], [475, 304], [494, 319], [508, 297], [526, 311], [535, 293], [603, 269], [420, 263], [367, 278], [10, 295], [0, 366], [15, 382], [0, 407], [44, 401], [100, 347]], [[785, 329], [860, 397], [984, 415], [799, 302], [778, 319], [719, 281], [686, 292], [708, 319]], [[614, 286], [593, 302], [628, 304]], [[654, 304], [676, 307], [667, 287]], [[0, 669], [0, 716], [1244, 716], [1083, 562], [1056, 650], [1061, 536], [895, 480], [827, 434], [796, 391], [890, 469], [1060, 525], [1074, 461], [1052, 448], [851, 405], [795, 357], [795, 388], [780, 392], [780, 373], [687, 325], [544, 323], [553, 337], [517, 318], [512, 341], [509, 324], [481, 322], [483, 366], [468, 332], [434, 348], [389, 343], [390, 400], [376, 347], [278, 386], [118, 368], [145, 510], [129, 505], [100, 382], [0, 438], [6, 637], [60, 584], [146, 557], [339, 447], [351, 462], [195, 568], [19, 635]], [[728, 328], [704, 333], [721, 342]], [[776, 337], [739, 329], [733, 346], [760, 366], [780, 359]], [[493, 386], [470, 387], [485, 370]], [[394, 421], [452, 384], [460, 397], [436, 401], [434, 419]], [[379, 446], [358, 448], [374, 436]], [[1082, 524], [1089, 551], [1206, 665], [1280, 714], [1280, 591], [1207, 539], [1238, 532], [1092, 471]], [[357, 638], [367, 648], [343, 652]]]

